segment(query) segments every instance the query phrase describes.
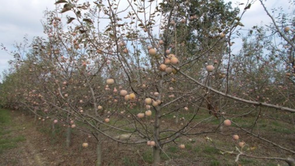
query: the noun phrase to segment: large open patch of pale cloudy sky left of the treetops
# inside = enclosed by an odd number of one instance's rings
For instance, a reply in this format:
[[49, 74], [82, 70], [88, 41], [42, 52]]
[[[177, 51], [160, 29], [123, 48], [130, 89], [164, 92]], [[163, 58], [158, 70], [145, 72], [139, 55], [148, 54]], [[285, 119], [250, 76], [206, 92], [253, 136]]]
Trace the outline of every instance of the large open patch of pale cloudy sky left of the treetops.
[[[54, 1], [2, 1], [0, 5], [0, 43], [12, 50], [12, 44], [22, 42], [25, 34], [28, 34], [29, 42], [34, 36], [44, 36], [40, 20], [46, 8], [54, 9]], [[10, 55], [0, 50], [0, 74], [4, 69], [8, 69], [7, 61], [10, 59], [12, 59]]]

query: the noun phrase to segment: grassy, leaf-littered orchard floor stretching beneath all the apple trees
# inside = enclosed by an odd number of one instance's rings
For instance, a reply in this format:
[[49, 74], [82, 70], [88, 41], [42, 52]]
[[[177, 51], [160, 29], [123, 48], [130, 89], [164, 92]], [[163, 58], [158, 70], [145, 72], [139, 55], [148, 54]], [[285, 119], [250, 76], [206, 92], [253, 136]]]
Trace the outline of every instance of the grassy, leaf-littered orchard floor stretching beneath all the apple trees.
[[[271, 113], [275, 115], [274, 113]], [[188, 114], [179, 114], [179, 117], [189, 119]], [[208, 117], [207, 112], [199, 113], [196, 117], [196, 122]], [[276, 115], [279, 117], [281, 115]], [[173, 119], [163, 118], [165, 126], [181, 127], [180, 124], [175, 125]], [[286, 120], [288, 116], [286, 117]], [[290, 117], [289, 117], [290, 119]], [[255, 116], [247, 116], [244, 118], [234, 118], [236, 123], [243, 127], [251, 127], [255, 121]], [[110, 123], [114, 123], [110, 122]], [[123, 122], [124, 123], [124, 122]], [[116, 124], [122, 125], [122, 122]], [[196, 132], [214, 128], [219, 124], [217, 119], [208, 120], [200, 125]], [[89, 138], [88, 134], [82, 133], [76, 129], [73, 130], [72, 143], [70, 148], [65, 147], [65, 131], [66, 127], [62, 125], [55, 126], [55, 134], [51, 130], [52, 121], [43, 123], [42, 121], [33, 122], [33, 118], [22, 115], [20, 112], [7, 110], [0, 111], [0, 165], [95, 165], [95, 149], [96, 141], [93, 137]], [[78, 125], [78, 124], [77, 124]], [[79, 125], [78, 125], [79, 126]], [[294, 126], [281, 121], [263, 118], [259, 119], [257, 126], [253, 128], [253, 132], [259, 133], [264, 138], [277, 142], [284, 147], [294, 150]], [[25, 129], [24, 129], [25, 128]], [[132, 130], [130, 126], [124, 127], [126, 130]], [[222, 135], [208, 134], [212, 138], [215, 145], [226, 150], [235, 150], [238, 141], [232, 140], [232, 131], [237, 127], [225, 128]], [[250, 128], [249, 128], [250, 129]], [[116, 133], [113, 133], [116, 134]], [[117, 133], [121, 134], [121, 133]], [[255, 150], [248, 151], [249, 155], [257, 156], [276, 156], [286, 157], [288, 153], [281, 153], [276, 147], [268, 143], [252, 137], [249, 134], [238, 132], [241, 140], [246, 142], [245, 149], [256, 147]], [[184, 143], [186, 149], [179, 149], [175, 143], [170, 143], [163, 147], [161, 154], [163, 165], [208, 165], [208, 166], [223, 166], [223, 165], [265, 165], [275, 166], [280, 164], [286, 165], [284, 162], [275, 160], [261, 160], [247, 157], [240, 157], [239, 162], [235, 162], [235, 155], [222, 154], [215, 149], [209, 141], [205, 139], [206, 135], [196, 135], [189, 137], [182, 137], [176, 140], [176, 143]], [[189, 138], [192, 141], [189, 141]], [[82, 148], [82, 143], [88, 142], [88, 148]], [[29, 152], [28, 152], [29, 151]], [[103, 165], [109, 166], [143, 166], [152, 165], [153, 155], [152, 148], [141, 145], [120, 145], [108, 139], [103, 140], [102, 145], [102, 159]], [[25, 154], [25, 155], [23, 155]], [[17, 157], [13, 157], [17, 156]], [[294, 157], [294, 156], [293, 156]], [[17, 162], [19, 158], [23, 161]], [[7, 160], [9, 159], [9, 160]], [[26, 162], [28, 160], [29, 162]]]

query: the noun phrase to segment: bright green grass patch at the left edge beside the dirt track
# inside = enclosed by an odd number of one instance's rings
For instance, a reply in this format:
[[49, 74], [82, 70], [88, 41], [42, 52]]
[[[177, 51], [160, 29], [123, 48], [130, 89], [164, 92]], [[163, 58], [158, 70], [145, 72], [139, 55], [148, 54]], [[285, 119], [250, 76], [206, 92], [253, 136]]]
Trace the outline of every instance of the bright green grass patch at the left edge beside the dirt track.
[[8, 110], [0, 110], [0, 153], [4, 150], [17, 147], [17, 142], [25, 141], [26, 138], [23, 135], [17, 135], [13, 137], [11, 135], [12, 130], [8, 127], [15, 128], [11, 123], [11, 117]]

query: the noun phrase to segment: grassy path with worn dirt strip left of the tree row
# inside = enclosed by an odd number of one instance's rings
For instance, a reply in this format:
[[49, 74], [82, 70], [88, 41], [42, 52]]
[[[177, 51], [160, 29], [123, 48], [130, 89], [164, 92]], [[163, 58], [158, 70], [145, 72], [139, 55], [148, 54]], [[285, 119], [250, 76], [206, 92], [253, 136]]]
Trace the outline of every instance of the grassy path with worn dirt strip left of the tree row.
[[24, 116], [0, 110], [0, 165], [45, 165]]

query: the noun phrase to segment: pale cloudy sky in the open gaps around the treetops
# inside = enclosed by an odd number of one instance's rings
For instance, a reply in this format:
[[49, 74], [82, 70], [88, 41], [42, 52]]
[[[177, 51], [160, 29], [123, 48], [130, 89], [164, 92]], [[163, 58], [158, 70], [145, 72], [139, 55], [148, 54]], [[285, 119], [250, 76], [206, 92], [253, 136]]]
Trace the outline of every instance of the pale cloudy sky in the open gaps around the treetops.
[[[225, 1], [228, 2], [230, 0]], [[240, 3], [245, 3], [246, 1], [239, 0]], [[12, 50], [12, 44], [22, 42], [25, 34], [27, 34], [29, 42], [32, 41], [34, 36], [45, 36], [40, 20], [43, 17], [44, 10], [55, 8], [54, 2], [54, 0], [2, 1], [0, 5], [0, 43], [3, 43], [6, 48]], [[236, 0], [232, 1], [233, 6], [235, 6], [236, 2]], [[288, 0], [268, 0], [266, 4], [268, 9], [271, 9], [288, 4]], [[284, 8], [288, 10], [287, 7]], [[260, 25], [261, 21], [263, 23], [269, 23], [270, 19], [266, 16], [259, 1], [257, 1], [244, 15], [242, 23], [245, 25], [245, 28], [250, 28], [257, 24]], [[239, 48], [239, 46], [236, 46], [236, 48]], [[10, 55], [0, 50], [0, 75], [5, 69], [7, 70], [9, 68], [7, 61], [10, 59], [12, 59]]]

